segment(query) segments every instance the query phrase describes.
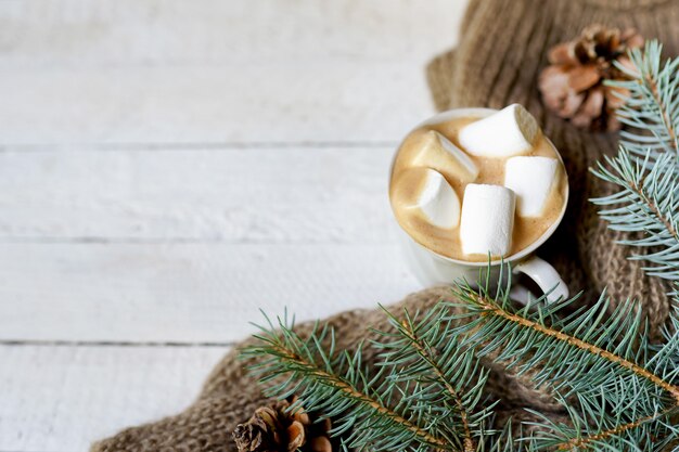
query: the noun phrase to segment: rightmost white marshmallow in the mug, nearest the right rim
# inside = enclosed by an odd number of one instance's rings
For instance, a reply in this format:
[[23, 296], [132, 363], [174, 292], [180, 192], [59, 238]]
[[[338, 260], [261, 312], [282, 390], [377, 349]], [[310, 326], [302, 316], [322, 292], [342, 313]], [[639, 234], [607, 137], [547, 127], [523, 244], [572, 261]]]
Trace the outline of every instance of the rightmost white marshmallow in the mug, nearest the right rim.
[[504, 186], [516, 194], [522, 217], [539, 217], [556, 179], [559, 162], [549, 157], [512, 157], [504, 164]]

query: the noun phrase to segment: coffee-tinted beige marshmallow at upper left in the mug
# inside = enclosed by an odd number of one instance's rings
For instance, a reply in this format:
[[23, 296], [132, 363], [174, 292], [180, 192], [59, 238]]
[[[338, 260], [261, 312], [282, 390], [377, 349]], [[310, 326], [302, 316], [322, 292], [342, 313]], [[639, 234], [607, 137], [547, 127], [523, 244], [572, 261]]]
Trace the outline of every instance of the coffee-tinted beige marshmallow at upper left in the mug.
[[478, 176], [478, 167], [470, 156], [443, 134], [430, 130], [421, 140], [418, 153], [412, 157], [412, 166], [432, 168], [450, 180], [465, 183], [473, 182]]

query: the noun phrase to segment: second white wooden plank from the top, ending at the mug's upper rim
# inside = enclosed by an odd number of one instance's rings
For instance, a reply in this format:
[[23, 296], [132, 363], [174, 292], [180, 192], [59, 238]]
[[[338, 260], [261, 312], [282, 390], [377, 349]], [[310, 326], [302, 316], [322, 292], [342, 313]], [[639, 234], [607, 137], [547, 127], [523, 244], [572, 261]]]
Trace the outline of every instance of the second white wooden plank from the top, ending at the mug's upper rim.
[[0, 99], [4, 148], [393, 142], [432, 114], [421, 65], [380, 62], [11, 72]]

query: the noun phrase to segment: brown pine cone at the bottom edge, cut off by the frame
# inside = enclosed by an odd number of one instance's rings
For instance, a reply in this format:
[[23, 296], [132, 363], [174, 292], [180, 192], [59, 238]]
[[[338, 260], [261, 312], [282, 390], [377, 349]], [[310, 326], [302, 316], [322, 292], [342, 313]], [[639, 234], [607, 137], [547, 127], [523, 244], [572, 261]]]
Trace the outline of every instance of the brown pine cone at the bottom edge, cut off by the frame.
[[233, 430], [239, 452], [332, 452], [330, 419], [315, 423], [304, 409], [289, 411], [296, 397], [255, 410], [255, 414]]

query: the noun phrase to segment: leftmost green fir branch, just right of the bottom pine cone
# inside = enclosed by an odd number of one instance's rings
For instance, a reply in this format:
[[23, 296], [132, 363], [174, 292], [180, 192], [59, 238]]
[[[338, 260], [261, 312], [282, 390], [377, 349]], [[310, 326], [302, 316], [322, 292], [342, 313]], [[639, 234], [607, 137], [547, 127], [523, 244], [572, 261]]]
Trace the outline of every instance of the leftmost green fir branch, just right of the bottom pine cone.
[[[338, 417], [334, 435], [350, 430], [343, 439], [346, 447], [373, 451], [395, 448], [423, 451], [459, 451], [443, 426], [432, 423], [425, 408], [403, 397], [423, 393], [420, 385], [399, 386], [387, 367], [369, 376], [361, 361], [361, 347], [354, 354], [334, 353], [334, 333], [315, 328], [307, 339], [299, 337], [279, 319], [279, 332], [271, 323], [256, 337], [260, 344], [246, 348], [245, 357], [265, 357], [252, 366], [270, 397], [299, 396], [300, 404], [324, 417]], [[330, 351], [324, 347], [330, 341]], [[400, 400], [398, 400], [400, 399]], [[395, 401], [396, 400], [396, 401]], [[379, 432], [379, 434], [377, 434]]]

